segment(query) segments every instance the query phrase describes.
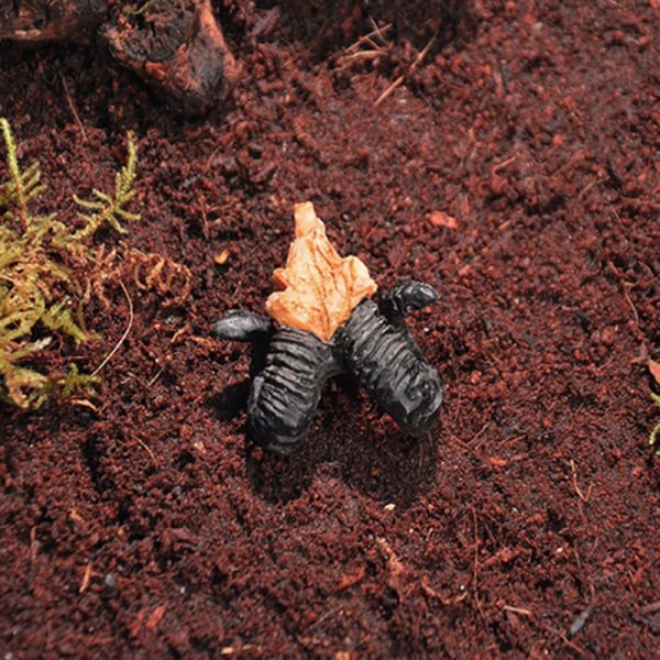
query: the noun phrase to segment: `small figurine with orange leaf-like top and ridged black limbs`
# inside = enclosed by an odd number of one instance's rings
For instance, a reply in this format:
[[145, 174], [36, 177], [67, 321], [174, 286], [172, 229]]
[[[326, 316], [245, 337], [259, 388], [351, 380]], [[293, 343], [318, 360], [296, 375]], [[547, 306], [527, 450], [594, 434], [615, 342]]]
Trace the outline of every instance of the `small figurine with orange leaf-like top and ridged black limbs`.
[[298, 447], [311, 426], [326, 381], [349, 372], [399, 425], [421, 436], [442, 403], [438, 372], [422, 356], [406, 314], [438, 300], [428, 284], [406, 282], [376, 305], [376, 283], [355, 256], [341, 257], [309, 201], [296, 205], [296, 239], [280, 290], [266, 300], [271, 318], [233, 309], [215, 326], [223, 339], [253, 345], [254, 381], [248, 435], [280, 454]]

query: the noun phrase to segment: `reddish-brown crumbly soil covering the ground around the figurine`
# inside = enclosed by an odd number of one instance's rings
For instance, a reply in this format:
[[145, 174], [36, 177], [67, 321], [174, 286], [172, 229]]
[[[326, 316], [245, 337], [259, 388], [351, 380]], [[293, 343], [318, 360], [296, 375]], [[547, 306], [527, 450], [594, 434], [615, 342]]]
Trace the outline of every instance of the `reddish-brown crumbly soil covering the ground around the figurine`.
[[[108, 188], [133, 129], [131, 244], [195, 276], [182, 309], [127, 283], [98, 413], [0, 410], [2, 658], [657, 657], [659, 3], [474, 2], [378, 106], [425, 11], [355, 62], [386, 3], [314, 4], [226, 3], [243, 79], [195, 121], [94, 44], [0, 47], [44, 204]], [[262, 309], [305, 199], [382, 288], [441, 293], [421, 441], [340, 381], [295, 455], [245, 443], [248, 350], [210, 328]]]

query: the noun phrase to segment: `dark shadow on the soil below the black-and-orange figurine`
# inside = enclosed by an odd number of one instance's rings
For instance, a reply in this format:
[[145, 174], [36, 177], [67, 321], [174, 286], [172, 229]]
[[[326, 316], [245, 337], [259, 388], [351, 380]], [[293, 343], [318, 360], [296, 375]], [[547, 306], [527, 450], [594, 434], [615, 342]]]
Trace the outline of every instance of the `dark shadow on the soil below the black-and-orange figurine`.
[[[250, 381], [228, 385], [210, 405], [220, 419], [237, 419], [249, 392]], [[435, 485], [438, 437], [437, 429], [424, 438], [407, 436], [350, 378], [340, 377], [326, 388], [308, 437], [292, 455], [245, 440], [248, 476], [265, 499], [289, 502], [310, 487], [324, 464], [362, 493], [406, 507]]]

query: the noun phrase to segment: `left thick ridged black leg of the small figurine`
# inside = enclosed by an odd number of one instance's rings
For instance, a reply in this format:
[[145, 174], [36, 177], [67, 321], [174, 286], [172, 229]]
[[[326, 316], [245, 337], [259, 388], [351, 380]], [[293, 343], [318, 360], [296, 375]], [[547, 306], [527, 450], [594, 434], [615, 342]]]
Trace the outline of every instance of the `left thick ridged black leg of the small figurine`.
[[323, 383], [337, 371], [332, 348], [314, 334], [290, 328], [276, 332], [248, 402], [252, 439], [280, 454], [295, 450], [311, 425]]

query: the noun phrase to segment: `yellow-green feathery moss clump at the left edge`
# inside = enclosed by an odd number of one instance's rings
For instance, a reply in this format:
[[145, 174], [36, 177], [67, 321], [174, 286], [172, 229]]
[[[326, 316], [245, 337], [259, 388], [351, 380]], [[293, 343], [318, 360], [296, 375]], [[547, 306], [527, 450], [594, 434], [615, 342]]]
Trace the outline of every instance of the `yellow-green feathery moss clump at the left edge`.
[[121, 222], [139, 218], [127, 211], [135, 194], [136, 150], [129, 134], [127, 164], [116, 176], [112, 195], [94, 189], [90, 200], [75, 197], [79, 220], [73, 227], [58, 213], [32, 212], [44, 189], [38, 163], [22, 170], [3, 118], [0, 131], [7, 150], [7, 180], [0, 180], [0, 396], [28, 409], [54, 392], [91, 394], [97, 382], [75, 364], [65, 375], [46, 373], [35, 365], [35, 356], [54, 337], [76, 343], [89, 339], [82, 307], [89, 292], [85, 274], [95, 262], [90, 238], [102, 224], [125, 233]]

